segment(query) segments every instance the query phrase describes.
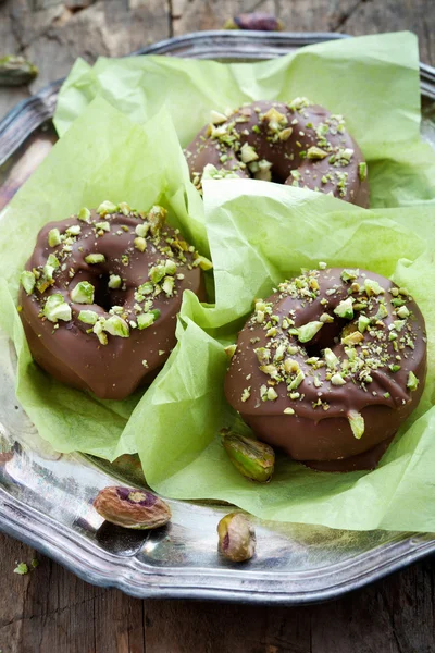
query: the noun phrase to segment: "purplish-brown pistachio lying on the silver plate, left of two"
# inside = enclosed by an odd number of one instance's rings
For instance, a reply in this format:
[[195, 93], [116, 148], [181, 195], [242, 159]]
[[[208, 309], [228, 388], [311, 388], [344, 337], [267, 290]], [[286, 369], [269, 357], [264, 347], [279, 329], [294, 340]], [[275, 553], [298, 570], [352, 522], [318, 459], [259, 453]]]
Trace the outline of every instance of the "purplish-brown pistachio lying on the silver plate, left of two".
[[156, 494], [116, 485], [101, 490], [94, 507], [107, 521], [137, 530], [159, 528], [172, 517], [169, 505]]

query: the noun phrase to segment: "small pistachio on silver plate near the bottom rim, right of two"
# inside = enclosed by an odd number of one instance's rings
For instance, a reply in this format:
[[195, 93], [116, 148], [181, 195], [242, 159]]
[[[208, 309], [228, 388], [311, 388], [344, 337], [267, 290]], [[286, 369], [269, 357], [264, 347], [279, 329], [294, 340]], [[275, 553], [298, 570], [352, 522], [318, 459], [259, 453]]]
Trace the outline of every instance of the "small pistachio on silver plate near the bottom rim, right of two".
[[252, 523], [241, 513], [229, 513], [217, 525], [219, 551], [233, 563], [249, 560], [256, 553]]

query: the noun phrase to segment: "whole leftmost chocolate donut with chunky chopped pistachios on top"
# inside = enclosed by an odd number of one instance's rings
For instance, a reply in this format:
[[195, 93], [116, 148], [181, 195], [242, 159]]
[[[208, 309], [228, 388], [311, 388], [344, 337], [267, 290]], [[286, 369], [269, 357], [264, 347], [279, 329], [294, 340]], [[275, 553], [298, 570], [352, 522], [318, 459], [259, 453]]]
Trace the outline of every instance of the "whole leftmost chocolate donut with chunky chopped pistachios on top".
[[59, 381], [123, 399], [167, 359], [183, 292], [206, 299], [211, 263], [165, 215], [104, 201], [39, 232], [20, 315], [34, 359]]

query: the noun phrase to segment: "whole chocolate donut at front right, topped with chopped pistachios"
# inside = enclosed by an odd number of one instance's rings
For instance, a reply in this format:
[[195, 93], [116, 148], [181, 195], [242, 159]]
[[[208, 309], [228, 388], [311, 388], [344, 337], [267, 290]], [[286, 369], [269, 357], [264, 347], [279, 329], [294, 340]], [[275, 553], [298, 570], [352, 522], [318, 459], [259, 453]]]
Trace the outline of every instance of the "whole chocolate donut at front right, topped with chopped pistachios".
[[371, 469], [417, 407], [425, 375], [424, 319], [408, 291], [322, 263], [256, 303], [225, 394], [260, 440], [295, 460]]

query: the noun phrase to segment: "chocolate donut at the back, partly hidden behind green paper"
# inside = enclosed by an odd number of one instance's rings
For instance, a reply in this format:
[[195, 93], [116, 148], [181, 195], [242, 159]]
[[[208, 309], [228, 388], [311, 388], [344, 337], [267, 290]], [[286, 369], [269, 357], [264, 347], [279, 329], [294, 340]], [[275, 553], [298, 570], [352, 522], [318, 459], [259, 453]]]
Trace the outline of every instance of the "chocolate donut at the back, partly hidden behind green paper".
[[217, 176], [253, 176], [369, 206], [368, 167], [343, 115], [307, 98], [244, 104], [229, 116], [212, 111], [185, 155], [198, 188], [211, 164]]

